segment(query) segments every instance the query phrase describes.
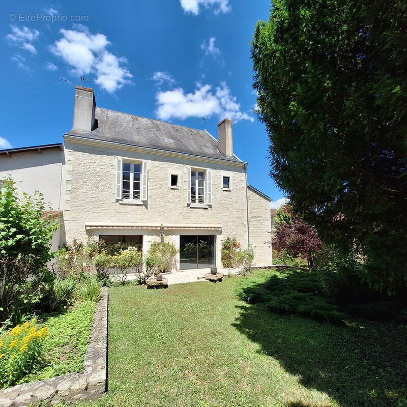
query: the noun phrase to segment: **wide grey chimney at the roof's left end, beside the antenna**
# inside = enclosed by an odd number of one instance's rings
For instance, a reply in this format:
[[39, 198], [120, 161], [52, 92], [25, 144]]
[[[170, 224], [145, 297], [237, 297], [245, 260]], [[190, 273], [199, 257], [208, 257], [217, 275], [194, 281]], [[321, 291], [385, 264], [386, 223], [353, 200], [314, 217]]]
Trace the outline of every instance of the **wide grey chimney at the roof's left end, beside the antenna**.
[[75, 86], [75, 107], [73, 110], [72, 129], [92, 131], [97, 126], [95, 123], [95, 94], [91, 88]]

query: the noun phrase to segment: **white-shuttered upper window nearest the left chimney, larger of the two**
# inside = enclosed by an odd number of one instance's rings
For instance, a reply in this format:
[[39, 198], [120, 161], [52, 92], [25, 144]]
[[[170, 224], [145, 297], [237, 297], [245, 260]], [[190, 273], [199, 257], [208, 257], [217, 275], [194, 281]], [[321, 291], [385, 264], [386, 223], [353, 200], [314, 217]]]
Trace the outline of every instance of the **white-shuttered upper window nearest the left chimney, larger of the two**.
[[130, 201], [147, 200], [147, 161], [123, 162], [117, 159], [116, 199]]

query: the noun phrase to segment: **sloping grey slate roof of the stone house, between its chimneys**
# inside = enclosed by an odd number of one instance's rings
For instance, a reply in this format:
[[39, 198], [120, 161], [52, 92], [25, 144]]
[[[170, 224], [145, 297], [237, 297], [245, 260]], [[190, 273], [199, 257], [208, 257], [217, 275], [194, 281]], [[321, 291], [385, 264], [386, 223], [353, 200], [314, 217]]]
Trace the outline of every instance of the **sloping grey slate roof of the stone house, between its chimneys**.
[[205, 130], [191, 129], [101, 107], [96, 107], [95, 118], [97, 120], [95, 130], [72, 129], [65, 134], [240, 162], [236, 156], [229, 158], [220, 153], [218, 141]]

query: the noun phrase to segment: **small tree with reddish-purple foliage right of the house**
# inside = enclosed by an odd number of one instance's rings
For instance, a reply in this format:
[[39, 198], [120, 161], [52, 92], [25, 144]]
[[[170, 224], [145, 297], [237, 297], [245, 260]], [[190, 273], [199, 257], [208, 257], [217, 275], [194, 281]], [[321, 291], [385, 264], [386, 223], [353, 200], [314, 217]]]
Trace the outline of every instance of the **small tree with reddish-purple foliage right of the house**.
[[322, 249], [322, 242], [314, 227], [294, 215], [290, 206], [284, 205], [277, 210], [273, 249], [294, 258], [304, 257], [312, 269], [315, 255]]

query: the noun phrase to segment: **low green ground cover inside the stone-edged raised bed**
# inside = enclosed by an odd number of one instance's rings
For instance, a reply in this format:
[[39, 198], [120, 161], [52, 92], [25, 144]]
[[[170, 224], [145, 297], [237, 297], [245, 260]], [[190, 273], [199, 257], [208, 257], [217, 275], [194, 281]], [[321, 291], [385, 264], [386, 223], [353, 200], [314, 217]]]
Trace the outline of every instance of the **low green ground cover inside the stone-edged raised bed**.
[[82, 302], [66, 312], [38, 317], [41, 325], [49, 329], [49, 335], [44, 340], [44, 364], [40, 370], [26, 375], [19, 383], [48, 379], [83, 369], [95, 306], [94, 302]]

